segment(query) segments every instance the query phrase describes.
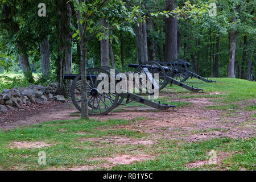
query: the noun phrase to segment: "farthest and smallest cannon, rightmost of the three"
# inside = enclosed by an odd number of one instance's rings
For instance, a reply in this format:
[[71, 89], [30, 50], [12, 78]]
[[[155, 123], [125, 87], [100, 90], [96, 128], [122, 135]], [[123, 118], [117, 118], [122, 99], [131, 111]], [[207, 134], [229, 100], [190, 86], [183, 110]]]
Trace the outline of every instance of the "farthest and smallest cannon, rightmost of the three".
[[189, 77], [197, 78], [205, 82], [216, 82], [208, 78], [204, 78], [200, 75], [197, 75], [196, 73], [193, 73], [191, 71], [191, 64], [183, 59], [175, 59], [168, 63], [163, 63], [161, 61], [155, 61], [155, 62], [159, 63], [162, 66], [166, 66], [170, 68], [170, 71], [167, 72], [167, 75], [180, 82], [184, 82], [188, 80]]

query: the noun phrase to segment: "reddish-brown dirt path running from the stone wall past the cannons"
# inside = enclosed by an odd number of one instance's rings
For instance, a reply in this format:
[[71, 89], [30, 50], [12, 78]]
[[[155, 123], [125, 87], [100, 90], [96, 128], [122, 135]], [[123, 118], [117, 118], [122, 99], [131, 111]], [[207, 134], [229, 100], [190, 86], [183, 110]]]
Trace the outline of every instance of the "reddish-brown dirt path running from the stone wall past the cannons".
[[[183, 98], [182, 102], [191, 102], [194, 105], [179, 107], [167, 111], [137, 111], [110, 112], [107, 115], [93, 116], [100, 119], [135, 119], [144, 117], [142, 121], [135, 121], [131, 125], [115, 126], [119, 129], [138, 130], [153, 134], [155, 137], [170, 139], [183, 138], [188, 142], [216, 137], [249, 137], [255, 135], [255, 121], [251, 118], [253, 111], [225, 115], [225, 111], [205, 109], [205, 106], [214, 105], [210, 98]], [[0, 129], [9, 129], [22, 125], [30, 125], [44, 121], [77, 119], [77, 110], [71, 101], [64, 104], [52, 102], [47, 106], [38, 106], [34, 110], [13, 111], [1, 117]], [[11, 118], [11, 119], [8, 119]], [[116, 129], [113, 128], [112, 129]], [[106, 130], [106, 129], [102, 129]], [[198, 132], [201, 131], [201, 132]], [[205, 132], [204, 132], [205, 131]], [[187, 136], [187, 137], [184, 137]]]

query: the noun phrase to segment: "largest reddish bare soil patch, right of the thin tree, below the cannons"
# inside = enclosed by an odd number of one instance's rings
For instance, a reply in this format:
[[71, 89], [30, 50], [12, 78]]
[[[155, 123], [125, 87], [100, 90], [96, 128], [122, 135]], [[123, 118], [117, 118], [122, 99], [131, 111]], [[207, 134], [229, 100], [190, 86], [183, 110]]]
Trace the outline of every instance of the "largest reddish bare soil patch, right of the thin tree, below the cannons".
[[[255, 136], [255, 122], [251, 119], [253, 111], [242, 111], [241, 114], [226, 116], [226, 111], [205, 109], [212, 98], [189, 99], [196, 102], [192, 107], [179, 107], [167, 111], [129, 111], [109, 113], [108, 115], [94, 116], [105, 119], [135, 119], [146, 117], [142, 121], [135, 121], [131, 125], [101, 127], [99, 130], [127, 129], [150, 134], [152, 138], [185, 139], [189, 142], [211, 138], [247, 138]], [[187, 101], [187, 98], [180, 99]], [[212, 104], [211, 104], [212, 105]], [[218, 129], [218, 131], [212, 131]], [[198, 134], [195, 134], [195, 131]], [[200, 132], [201, 131], [201, 132]]]

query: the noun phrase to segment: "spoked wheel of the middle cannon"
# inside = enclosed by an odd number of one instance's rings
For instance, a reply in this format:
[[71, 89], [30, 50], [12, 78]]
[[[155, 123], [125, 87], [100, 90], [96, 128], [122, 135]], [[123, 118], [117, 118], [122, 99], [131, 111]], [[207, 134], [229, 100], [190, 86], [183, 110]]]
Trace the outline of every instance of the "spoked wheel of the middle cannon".
[[[146, 74], [146, 72], [144, 72], [142, 67], [146, 67], [148, 69], [148, 71], [152, 74], [152, 77], [154, 78], [153, 74], [158, 73], [159, 74], [159, 91], [162, 90], [164, 87], [166, 87], [167, 85], [167, 77], [166, 77], [166, 71], [164, 71], [163, 67], [159, 64], [156, 63], [155, 61], [147, 61], [144, 62], [142, 64], [140, 64], [137, 68], [135, 68], [134, 73], [139, 73], [139, 74]], [[146, 74], [147, 75], [147, 74]], [[144, 85], [144, 86], [142, 86]], [[146, 91], [146, 83], [141, 83], [135, 86], [142, 92]]]

